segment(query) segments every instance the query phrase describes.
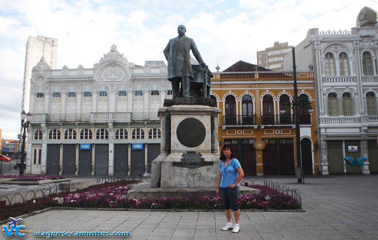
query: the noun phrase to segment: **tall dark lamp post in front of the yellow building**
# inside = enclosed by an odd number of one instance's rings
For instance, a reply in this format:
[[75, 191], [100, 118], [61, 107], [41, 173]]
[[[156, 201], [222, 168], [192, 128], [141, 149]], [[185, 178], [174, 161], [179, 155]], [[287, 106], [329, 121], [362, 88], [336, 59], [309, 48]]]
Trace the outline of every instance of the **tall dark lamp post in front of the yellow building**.
[[[298, 103], [298, 86], [297, 86], [297, 66], [295, 65], [295, 49], [293, 47], [293, 77], [294, 77], [294, 102], [290, 105], [294, 106], [295, 114], [295, 137], [296, 137], [296, 149], [297, 149], [297, 178], [298, 183], [302, 183], [302, 156], [301, 156], [301, 130], [299, 126], [299, 103]], [[314, 109], [311, 107], [311, 103], [306, 103], [310, 105], [308, 112], [312, 113]], [[292, 108], [292, 107], [291, 107]], [[280, 110], [281, 114], [285, 114], [285, 109]]]

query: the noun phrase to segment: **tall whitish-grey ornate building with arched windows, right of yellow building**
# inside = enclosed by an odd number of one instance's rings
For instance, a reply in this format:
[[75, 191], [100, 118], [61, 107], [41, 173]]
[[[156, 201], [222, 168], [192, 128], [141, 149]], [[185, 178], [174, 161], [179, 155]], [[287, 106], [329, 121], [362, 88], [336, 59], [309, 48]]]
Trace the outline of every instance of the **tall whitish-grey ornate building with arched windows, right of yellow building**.
[[[363, 8], [351, 31], [310, 29], [295, 47], [297, 71], [314, 71], [322, 174], [354, 173], [344, 157], [365, 156], [357, 171], [378, 172], [378, 23]], [[292, 70], [292, 52], [284, 68]]]

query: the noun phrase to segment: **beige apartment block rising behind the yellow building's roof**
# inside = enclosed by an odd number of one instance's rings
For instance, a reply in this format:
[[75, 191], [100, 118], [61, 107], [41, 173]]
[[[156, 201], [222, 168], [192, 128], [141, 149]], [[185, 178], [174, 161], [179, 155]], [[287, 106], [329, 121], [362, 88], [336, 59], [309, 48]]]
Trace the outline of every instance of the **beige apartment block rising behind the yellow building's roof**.
[[257, 51], [257, 63], [263, 68], [273, 71], [283, 71], [283, 55], [293, 48], [287, 42], [274, 42], [273, 47]]

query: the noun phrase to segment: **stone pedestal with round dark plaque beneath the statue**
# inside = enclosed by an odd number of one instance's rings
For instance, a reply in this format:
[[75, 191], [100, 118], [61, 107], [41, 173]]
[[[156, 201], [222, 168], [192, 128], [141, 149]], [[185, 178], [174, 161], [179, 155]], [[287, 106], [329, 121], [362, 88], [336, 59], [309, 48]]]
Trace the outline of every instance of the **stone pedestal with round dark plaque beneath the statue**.
[[161, 154], [152, 161], [152, 188], [215, 188], [219, 174], [218, 114], [204, 105], [159, 109]]

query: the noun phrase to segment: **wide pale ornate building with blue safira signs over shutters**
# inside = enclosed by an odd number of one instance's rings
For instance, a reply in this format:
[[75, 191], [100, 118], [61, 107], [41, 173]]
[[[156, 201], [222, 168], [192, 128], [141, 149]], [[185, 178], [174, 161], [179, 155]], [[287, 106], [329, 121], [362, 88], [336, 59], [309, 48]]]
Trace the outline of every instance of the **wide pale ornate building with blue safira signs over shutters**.
[[172, 98], [167, 66], [137, 66], [113, 45], [93, 68], [33, 68], [27, 174], [150, 172], [160, 154], [158, 109]]

